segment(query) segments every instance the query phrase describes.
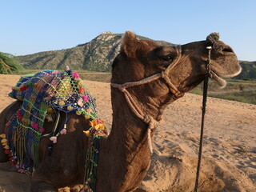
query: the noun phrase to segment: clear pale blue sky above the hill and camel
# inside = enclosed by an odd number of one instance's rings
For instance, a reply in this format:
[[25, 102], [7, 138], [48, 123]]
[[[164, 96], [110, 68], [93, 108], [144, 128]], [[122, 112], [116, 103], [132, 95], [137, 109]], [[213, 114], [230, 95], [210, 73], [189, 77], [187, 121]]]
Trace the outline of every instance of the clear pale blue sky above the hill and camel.
[[103, 31], [177, 44], [219, 32], [239, 60], [256, 61], [255, 0], [12, 0], [0, 7], [0, 51], [14, 55], [74, 47]]

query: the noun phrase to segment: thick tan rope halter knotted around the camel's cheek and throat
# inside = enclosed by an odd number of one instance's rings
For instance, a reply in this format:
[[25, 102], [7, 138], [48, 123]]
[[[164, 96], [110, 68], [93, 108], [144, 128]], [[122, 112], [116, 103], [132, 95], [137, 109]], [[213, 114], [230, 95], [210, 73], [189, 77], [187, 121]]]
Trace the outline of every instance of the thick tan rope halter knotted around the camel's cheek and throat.
[[140, 118], [143, 122], [146, 122], [148, 124], [148, 129], [147, 129], [147, 142], [149, 146], [150, 153], [153, 153], [153, 148], [152, 148], [152, 142], [151, 142], [151, 131], [158, 126], [159, 122], [155, 120], [153, 117], [150, 115], [144, 114], [143, 111], [138, 107], [136, 104], [134, 98], [131, 96], [128, 90], [126, 90], [128, 87], [132, 86], [140, 86], [149, 82], [153, 82], [155, 80], [158, 80], [159, 78], [163, 78], [166, 81], [167, 86], [169, 87], [169, 90], [172, 94], [175, 95], [175, 97], [179, 97], [181, 92], [178, 90], [176, 86], [170, 81], [170, 78], [168, 75], [170, 74], [170, 70], [174, 68], [174, 66], [177, 65], [179, 62], [180, 58], [182, 57], [182, 48], [181, 46], [175, 46], [175, 50], [177, 53], [177, 57], [174, 58], [174, 61], [170, 63], [169, 66], [166, 67], [165, 70], [162, 70], [162, 72], [158, 74], [153, 74], [148, 78], [143, 78], [142, 80], [139, 80], [137, 82], [126, 82], [124, 84], [116, 84], [116, 83], [111, 83], [110, 86], [114, 88], [118, 88], [119, 90], [122, 91], [122, 93], [125, 94], [126, 102], [130, 106], [130, 109], [133, 111], [133, 113]]

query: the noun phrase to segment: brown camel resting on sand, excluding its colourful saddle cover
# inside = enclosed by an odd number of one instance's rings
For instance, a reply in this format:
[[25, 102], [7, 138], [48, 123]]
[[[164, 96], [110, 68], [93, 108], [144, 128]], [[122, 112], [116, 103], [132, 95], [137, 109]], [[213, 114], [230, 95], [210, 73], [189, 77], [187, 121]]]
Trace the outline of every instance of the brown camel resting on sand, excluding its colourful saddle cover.
[[[122, 49], [112, 64], [113, 123], [109, 136], [99, 141], [97, 192], [138, 188], [150, 167], [151, 139], [166, 106], [206, 77], [206, 47], [212, 47], [210, 76], [220, 86], [225, 86], [222, 78], [240, 73], [234, 50], [213, 37], [182, 46], [160, 46], [150, 40], [139, 40], [132, 31], [126, 31]], [[0, 134], [21, 103], [13, 102], [2, 111]], [[64, 116], [61, 113], [61, 126]], [[46, 121], [46, 133], [53, 126], [54, 122]], [[50, 155], [50, 137], [41, 138], [40, 162], [32, 177], [31, 191], [58, 191], [63, 186], [83, 184], [88, 143], [83, 131], [89, 128], [89, 120], [71, 114], [67, 133], [58, 136]], [[1, 149], [0, 162], [7, 160]]]

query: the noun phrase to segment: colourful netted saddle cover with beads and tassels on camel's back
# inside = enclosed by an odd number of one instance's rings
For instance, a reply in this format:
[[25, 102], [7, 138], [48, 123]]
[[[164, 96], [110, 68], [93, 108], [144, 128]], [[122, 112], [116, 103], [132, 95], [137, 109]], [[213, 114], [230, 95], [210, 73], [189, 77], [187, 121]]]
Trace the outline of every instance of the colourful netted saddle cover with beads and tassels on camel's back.
[[[30, 174], [38, 166], [38, 147], [45, 131], [43, 124], [47, 112], [53, 113], [53, 110], [62, 110], [66, 116], [74, 112], [90, 119], [90, 130], [84, 131], [90, 138], [86, 166], [95, 167], [91, 164], [97, 164], [98, 160], [89, 154], [98, 153], [95, 141], [107, 136], [106, 126], [98, 118], [95, 98], [77, 72], [43, 70], [38, 74], [27, 74], [20, 78], [9, 96], [22, 101], [22, 106], [6, 123], [6, 133], [0, 135], [0, 138], [10, 162], [18, 167], [19, 172]], [[50, 140], [57, 142], [59, 134], [66, 134], [66, 124]], [[88, 177], [91, 178], [91, 175], [92, 169]]]

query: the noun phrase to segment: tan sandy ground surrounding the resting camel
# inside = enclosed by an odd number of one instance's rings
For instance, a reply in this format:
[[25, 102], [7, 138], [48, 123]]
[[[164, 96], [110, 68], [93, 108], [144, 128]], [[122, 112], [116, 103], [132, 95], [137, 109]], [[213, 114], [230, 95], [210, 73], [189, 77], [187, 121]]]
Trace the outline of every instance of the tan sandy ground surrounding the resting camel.
[[[0, 75], [0, 111], [16, 75]], [[86, 81], [102, 119], [111, 126], [110, 84]], [[186, 94], [165, 111], [154, 134], [150, 171], [138, 192], [194, 190], [202, 97]], [[256, 106], [209, 98], [198, 191], [256, 191]], [[0, 192], [30, 191], [30, 177], [0, 163]]]

